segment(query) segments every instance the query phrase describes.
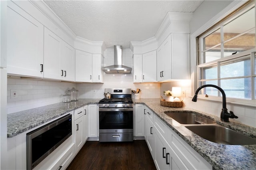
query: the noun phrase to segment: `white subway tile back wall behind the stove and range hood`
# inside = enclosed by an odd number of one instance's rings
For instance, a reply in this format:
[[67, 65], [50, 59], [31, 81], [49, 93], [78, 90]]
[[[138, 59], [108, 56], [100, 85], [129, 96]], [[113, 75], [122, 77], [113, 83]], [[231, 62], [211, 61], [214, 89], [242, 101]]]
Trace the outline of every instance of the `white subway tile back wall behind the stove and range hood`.
[[[122, 49], [122, 63], [132, 67], [132, 51], [129, 48]], [[114, 48], [107, 48], [104, 51], [104, 65], [114, 64]], [[77, 83], [80, 98], [103, 99], [105, 88], [131, 88], [141, 89], [141, 98], [159, 98], [160, 83], [133, 83], [133, 75], [130, 74], [110, 74], [105, 73], [104, 83]], [[93, 91], [96, 93], [93, 93]]]

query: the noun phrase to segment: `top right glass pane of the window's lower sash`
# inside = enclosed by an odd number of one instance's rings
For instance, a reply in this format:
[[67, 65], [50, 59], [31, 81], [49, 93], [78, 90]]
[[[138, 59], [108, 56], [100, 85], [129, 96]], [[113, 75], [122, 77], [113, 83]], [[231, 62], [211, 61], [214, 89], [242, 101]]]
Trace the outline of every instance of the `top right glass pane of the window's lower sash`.
[[221, 64], [220, 78], [248, 76], [251, 74], [250, 66], [250, 58], [243, 61]]

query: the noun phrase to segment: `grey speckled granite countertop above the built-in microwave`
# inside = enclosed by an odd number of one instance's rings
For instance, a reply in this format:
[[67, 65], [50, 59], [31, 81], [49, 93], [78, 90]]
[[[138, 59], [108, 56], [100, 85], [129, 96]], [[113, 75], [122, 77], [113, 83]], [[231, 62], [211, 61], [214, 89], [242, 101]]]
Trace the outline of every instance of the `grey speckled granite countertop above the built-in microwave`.
[[7, 137], [11, 138], [22, 132], [42, 125], [52, 119], [60, 117], [74, 109], [87, 104], [98, 103], [100, 99], [79, 99], [70, 103], [56, 103], [26, 111], [7, 115]]

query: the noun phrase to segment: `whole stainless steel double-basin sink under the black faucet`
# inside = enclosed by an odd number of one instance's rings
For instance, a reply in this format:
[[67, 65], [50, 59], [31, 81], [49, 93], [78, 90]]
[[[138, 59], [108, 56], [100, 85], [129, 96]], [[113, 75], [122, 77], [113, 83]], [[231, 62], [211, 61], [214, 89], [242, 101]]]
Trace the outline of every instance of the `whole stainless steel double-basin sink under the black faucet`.
[[198, 136], [218, 144], [251, 145], [256, 144], [256, 139], [236, 132], [230, 128], [218, 125], [214, 120], [196, 113], [164, 112], [166, 115], [183, 124]]

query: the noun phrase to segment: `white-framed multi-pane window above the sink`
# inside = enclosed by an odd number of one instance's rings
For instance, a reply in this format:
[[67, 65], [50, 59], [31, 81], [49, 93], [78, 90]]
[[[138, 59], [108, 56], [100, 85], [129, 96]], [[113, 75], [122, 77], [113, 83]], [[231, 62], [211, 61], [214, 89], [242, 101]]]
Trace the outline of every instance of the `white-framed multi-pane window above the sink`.
[[[226, 97], [255, 100], [255, 1], [197, 37], [198, 85], [221, 87]], [[221, 96], [214, 88], [202, 94]]]

